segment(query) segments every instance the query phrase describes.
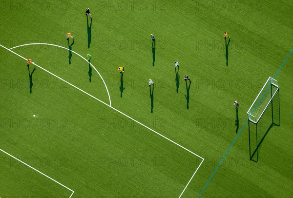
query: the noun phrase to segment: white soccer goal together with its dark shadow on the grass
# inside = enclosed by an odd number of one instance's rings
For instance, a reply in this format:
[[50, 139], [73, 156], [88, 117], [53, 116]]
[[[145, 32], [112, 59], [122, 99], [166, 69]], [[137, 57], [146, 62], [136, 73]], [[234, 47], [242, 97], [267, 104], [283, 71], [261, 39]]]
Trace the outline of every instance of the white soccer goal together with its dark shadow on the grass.
[[250, 159], [258, 161], [262, 141], [273, 126], [280, 125], [278, 81], [269, 77], [247, 111], [249, 119]]

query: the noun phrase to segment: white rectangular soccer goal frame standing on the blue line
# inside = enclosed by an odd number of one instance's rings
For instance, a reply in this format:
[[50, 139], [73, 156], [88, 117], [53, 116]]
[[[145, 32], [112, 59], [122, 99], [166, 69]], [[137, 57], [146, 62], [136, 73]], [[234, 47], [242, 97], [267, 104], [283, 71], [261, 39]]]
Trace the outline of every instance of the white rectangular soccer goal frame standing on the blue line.
[[257, 124], [279, 90], [278, 81], [269, 77], [247, 111], [249, 121]]

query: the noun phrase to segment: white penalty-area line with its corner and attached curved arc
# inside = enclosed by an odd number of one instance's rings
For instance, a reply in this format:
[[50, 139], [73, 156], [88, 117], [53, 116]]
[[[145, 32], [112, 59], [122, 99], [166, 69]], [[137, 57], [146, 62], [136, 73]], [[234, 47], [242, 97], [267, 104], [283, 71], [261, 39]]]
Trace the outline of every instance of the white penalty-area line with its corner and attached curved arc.
[[[17, 56], [21, 57], [22, 59], [25, 59], [25, 60], [27, 60], [26, 58], [22, 57], [21, 55], [17, 54], [16, 52], [12, 51], [11, 49], [14, 49], [14, 48], [17, 48], [17, 47], [21, 47], [21, 46], [25, 46], [25, 45], [34, 45], [34, 44], [41, 44], [41, 45], [42, 45], [42, 44], [44, 44], [44, 45], [52, 45], [52, 46], [56, 46], [56, 47], [61, 47], [61, 48], [63, 48], [63, 49], [67, 49], [67, 48], [65, 48], [65, 47], [63, 47], [63, 46], [59, 46], [59, 45], [55, 45], [55, 44], [49, 44], [49, 43], [29, 43], [29, 44], [24, 44], [24, 45], [15, 46], [15, 47], [12, 47], [12, 48], [10, 48], [10, 49], [8, 49], [8, 48], [4, 47], [4, 46], [3, 46], [3, 45], [1, 45], [1, 44], [0, 44], [0, 46], [1, 46], [1, 47], [3, 47], [3, 48], [5, 48], [6, 50], [8, 50], [8, 51], [12, 52], [13, 54], [15, 54], [15, 55], [17, 55]], [[67, 50], [69, 50], [69, 49], [67, 49]], [[71, 51], [72, 51], [72, 50], [71, 50]], [[74, 51], [72, 51], [72, 52], [73, 52], [73, 53], [75, 53], [75, 54], [77, 54], [78, 56], [80, 56], [80, 57], [81, 57], [81, 58], [83, 58], [84, 60], [86, 60], [86, 59], [85, 59], [84, 57], [82, 57], [80, 54], [78, 54], [78, 53], [76, 53], [76, 52], [74, 52]], [[86, 60], [86, 61], [87, 61], [87, 60]], [[88, 62], [88, 61], [87, 61], [87, 62]], [[107, 103], [103, 102], [102, 100], [100, 100], [100, 99], [97, 99], [96, 97], [94, 97], [94, 96], [90, 95], [89, 93], [85, 92], [84, 90], [82, 90], [82, 89], [78, 88], [77, 86], [75, 86], [75, 85], [71, 84], [70, 82], [67, 82], [66, 80], [64, 80], [64, 79], [62, 79], [62, 78], [60, 78], [60, 77], [58, 77], [57, 75], [55, 75], [55, 74], [53, 74], [53, 73], [49, 72], [48, 70], [46, 70], [46, 69], [42, 68], [41, 66], [37, 65], [36, 63], [32, 62], [32, 64], [36, 65], [37, 67], [41, 68], [42, 70], [46, 71], [47, 73], [49, 73], [49, 74], [51, 74], [51, 75], [55, 76], [56, 78], [63, 80], [63, 81], [64, 81], [64, 82], [66, 82], [67, 84], [69, 84], [69, 85], [73, 86], [74, 88], [76, 88], [76, 89], [80, 90], [81, 92], [83, 92], [84, 94], [86, 94], [86, 95], [88, 95], [88, 96], [92, 97], [93, 99], [96, 99], [96, 100], [98, 100], [98, 101], [102, 102], [103, 104], [105, 104], [106, 106], [110, 107], [111, 109], [113, 109], [113, 110], [117, 111], [118, 113], [120, 113], [120, 114], [122, 114], [122, 115], [126, 116], [127, 118], [129, 118], [129, 119], [131, 119], [131, 120], [133, 120], [133, 121], [137, 122], [138, 124], [140, 124], [140, 125], [144, 126], [144, 127], [145, 127], [145, 128], [147, 128], [148, 130], [150, 130], [150, 131], [152, 131], [152, 132], [156, 133], [157, 135], [161, 136], [162, 138], [164, 138], [164, 139], [167, 139], [168, 141], [170, 141], [170, 142], [172, 142], [172, 143], [176, 144], [177, 146], [179, 146], [179, 147], [183, 148], [184, 150], [188, 151], [189, 153], [191, 153], [191, 154], [195, 155], [196, 157], [198, 157], [198, 158], [201, 158], [201, 159], [202, 159], [202, 162], [199, 164], [199, 166], [198, 166], [198, 167], [197, 167], [197, 169], [195, 170], [194, 174], [193, 174], [193, 175], [192, 175], [192, 177], [189, 179], [189, 181], [188, 181], [188, 183], [187, 183], [186, 187], [184, 188], [183, 192], [181, 193], [180, 197], [183, 195], [183, 193], [184, 193], [184, 191], [186, 190], [186, 188], [188, 187], [188, 185], [189, 185], [189, 183], [190, 183], [191, 179], [194, 177], [195, 173], [197, 172], [197, 170], [199, 169], [199, 167], [200, 167], [200, 166], [201, 166], [201, 164], [203, 163], [203, 161], [204, 161], [204, 158], [202, 158], [202, 157], [200, 157], [199, 155], [197, 155], [197, 154], [193, 153], [192, 151], [188, 150], [188, 149], [187, 149], [187, 148], [185, 148], [184, 146], [181, 146], [180, 144], [176, 143], [175, 141], [173, 141], [173, 140], [171, 140], [171, 139], [168, 139], [166, 136], [164, 136], [164, 135], [162, 135], [162, 134], [160, 134], [160, 133], [156, 132], [155, 130], [153, 130], [153, 129], [151, 129], [151, 128], [147, 127], [146, 125], [144, 125], [143, 123], [141, 123], [141, 122], [137, 121], [136, 119], [133, 119], [133, 118], [131, 118], [130, 116], [127, 116], [125, 113], [123, 113], [123, 112], [119, 111], [118, 109], [115, 109], [114, 107], [112, 107], [111, 105], [109, 105], [109, 104], [107, 104]], [[90, 63], [90, 64], [91, 64], [91, 63]], [[92, 64], [91, 64], [91, 65], [92, 65]], [[92, 65], [92, 66], [93, 66], [93, 65]], [[94, 66], [93, 66], [93, 67], [94, 67]], [[94, 68], [95, 68], [95, 67], [94, 67]], [[95, 68], [95, 70], [96, 70], [96, 68]], [[96, 71], [97, 71], [97, 70], [96, 70]], [[98, 72], [98, 71], [97, 71], [97, 72]], [[98, 73], [99, 73], [99, 72], [98, 72]], [[100, 75], [100, 73], [99, 73], [99, 75]], [[101, 76], [101, 75], [100, 75], [100, 77], [102, 78], [102, 76]], [[102, 78], [102, 79], [103, 79], [103, 78]], [[104, 81], [104, 79], [103, 79], [103, 81]], [[105, 83], [105, 81], [104, 81], [104, 83]], [[105, 86], [106, 86], [106, 85], [105, 85]], [[106, 89], [107, 89], [107, 87], [106, 87]], [[107, 90], [107, 91], [108, 91], [108, 90]], [[108, 94], [109, 94], [109, 92], [108, 92]], [[110, 99], [110, 95], [109, 95], [109, 99]], [[179, 197], [179, 198], [180, 198], [180, 197]]]

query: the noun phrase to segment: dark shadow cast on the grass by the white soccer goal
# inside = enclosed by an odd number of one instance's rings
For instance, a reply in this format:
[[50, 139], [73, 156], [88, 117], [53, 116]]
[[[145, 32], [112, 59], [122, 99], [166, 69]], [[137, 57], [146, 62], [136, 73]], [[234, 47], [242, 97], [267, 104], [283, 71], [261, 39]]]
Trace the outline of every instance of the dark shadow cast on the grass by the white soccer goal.
[[280, 95], [278, 90], [262, 118], [256, 124], [250, 123], [250, 121], [248, 122], [249, 154], [251, 161], [258, 161], [261, 144], [269, 131], [275, 126], [280, 126], [280, 124]]

